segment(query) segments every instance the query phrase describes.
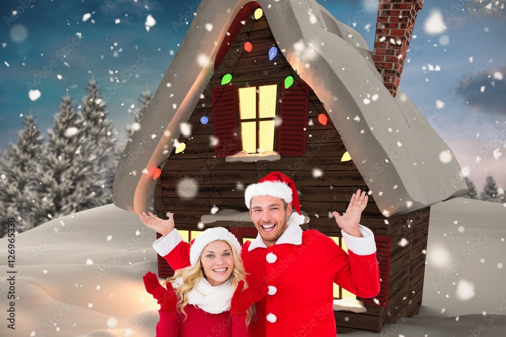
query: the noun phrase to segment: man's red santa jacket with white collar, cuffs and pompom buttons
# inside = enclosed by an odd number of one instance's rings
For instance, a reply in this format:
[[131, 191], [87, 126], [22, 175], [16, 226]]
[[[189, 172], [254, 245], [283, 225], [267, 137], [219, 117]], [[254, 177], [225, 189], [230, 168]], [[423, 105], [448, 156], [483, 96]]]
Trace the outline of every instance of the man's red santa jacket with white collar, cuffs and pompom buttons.
[[[247, 281], [265, 277], [269, 293], [257, 303], [257, 321], [250, 336], [335, 337], [333, 285], [370, 298], [379, 293], [376, 246], [370, 229], [362, 237], [341, 231], [347, 254], [317, 230], [289, 224], [276, 244], [267, 247], [260, 234], [242, 246]], [[175, 270], [189, 265], [190, 246], [176, 230], [153, 247]]]

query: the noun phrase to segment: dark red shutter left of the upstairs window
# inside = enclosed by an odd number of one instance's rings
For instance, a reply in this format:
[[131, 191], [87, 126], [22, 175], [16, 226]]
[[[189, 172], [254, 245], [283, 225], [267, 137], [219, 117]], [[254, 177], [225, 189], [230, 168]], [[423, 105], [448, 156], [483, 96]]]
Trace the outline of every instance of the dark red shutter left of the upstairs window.
[[235, 85], [213, 88], [213, 128], [218, 144], [216, 158], [235, 155], [239, 152], [237, 128], [237, 94]]

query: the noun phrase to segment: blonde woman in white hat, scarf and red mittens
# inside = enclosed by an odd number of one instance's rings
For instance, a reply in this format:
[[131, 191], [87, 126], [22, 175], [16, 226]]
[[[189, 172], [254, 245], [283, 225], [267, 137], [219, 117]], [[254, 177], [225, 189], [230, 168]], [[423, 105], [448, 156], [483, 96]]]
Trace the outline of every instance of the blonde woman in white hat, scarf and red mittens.
[[263, 279], [247, 287], [239, 251], [227, 229], [209, 228], [194, 240], [190, 266], [168, 278], [166, 289], [155, 274], [143, 276], [147, 292], [160, 304], [156, 337], [247, 336], [255, 313], [251, 305], [268, 287]]

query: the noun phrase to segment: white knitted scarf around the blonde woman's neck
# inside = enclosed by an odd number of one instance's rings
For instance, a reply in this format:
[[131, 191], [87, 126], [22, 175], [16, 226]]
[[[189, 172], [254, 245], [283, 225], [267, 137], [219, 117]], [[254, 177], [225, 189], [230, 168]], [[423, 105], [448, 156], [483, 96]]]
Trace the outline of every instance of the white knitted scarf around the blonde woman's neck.
[[[181, 284], [183, 284], [183, 278], [178, 277], [172, 286], [177, 289]], [[186, 293], [189, 304], [209, 314], [230, 311], [232, 295], [234, 295], [234, 287], [230, 278], [218, 286], [212, 286], [205, 278], [202, 278], [191, 291]]]

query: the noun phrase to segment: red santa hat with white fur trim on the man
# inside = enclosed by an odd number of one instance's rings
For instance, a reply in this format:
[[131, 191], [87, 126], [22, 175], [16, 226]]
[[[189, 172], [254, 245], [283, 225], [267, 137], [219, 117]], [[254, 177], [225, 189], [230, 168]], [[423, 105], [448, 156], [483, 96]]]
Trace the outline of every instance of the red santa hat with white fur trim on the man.
[[256, 184], [251, 184], [244, 192], [246, 206], [251, 208], [251, 199], [253, 197], [269, 196], [291, 203], [292, 208], [297, 212], [298, 218], [304, 222], [304, 216], [301, 214], [301, 204], [295, 183], [289, 177], [281, 172], [271, 172]]

